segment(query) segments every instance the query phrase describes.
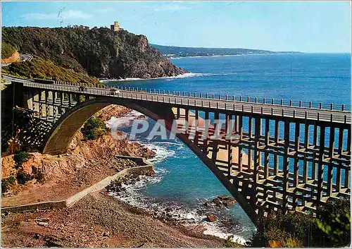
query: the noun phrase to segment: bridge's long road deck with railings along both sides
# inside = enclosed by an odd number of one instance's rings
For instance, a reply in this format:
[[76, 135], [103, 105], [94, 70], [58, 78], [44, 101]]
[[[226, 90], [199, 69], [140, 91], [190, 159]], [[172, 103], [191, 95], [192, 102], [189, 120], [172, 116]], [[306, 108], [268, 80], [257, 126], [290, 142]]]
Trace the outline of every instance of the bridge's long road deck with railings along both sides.
[[[277, 106], [275, 104], [262, 104], [260, 102], [227, 102], [223, 101], [226, 99], [213, 99], [213, 98], [200, 98], [187, 95], [173, 95], [168, 93], [159, 93], [159, 90], [154, 93], [151, 92], [141, 92], [138, 90], [122, 90], [111, 95], [111, 90], [109, 87], [97, 88], [97, 87], [87, 87], [84, 92], [80, 90], [79, 86], [75, 85], [61, 85], [61, 84], [42, 84], [42, 83], [23, 83], [27, 87], [38, 87], [49, 90], [60, 90], [66, 92], [77, 92], [82, 95], [102, 95], [109, 97], [122, 97], [126, 99], [140, 99], [151, 102], [163, 102], [168, 104], [181, 104], [188, 105], [190, 107], [203, 107], [211, 109], [225, 109], [230, 111], [243, 111], [253, 114], [267, 114], [272, 116], [287, 116], [292, 118], [301, 119], [313, 119], [318, 121], [331, 121], [338, 123], [351, 123], [351, 114], [346, 112], [336, 112], [326, 109], [297, 109], [293, 106]], [[220, 101], [219, 101], [220, 100]], [[228, 100], [228, 99], [227, 99]]]

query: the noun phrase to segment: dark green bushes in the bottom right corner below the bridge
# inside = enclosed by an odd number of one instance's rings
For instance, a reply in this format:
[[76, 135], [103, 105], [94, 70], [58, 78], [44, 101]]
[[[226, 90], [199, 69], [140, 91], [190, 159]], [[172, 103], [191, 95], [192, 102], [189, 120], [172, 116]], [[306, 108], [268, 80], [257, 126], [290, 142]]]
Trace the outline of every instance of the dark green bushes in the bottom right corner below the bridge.
[[330, 200], [317, 217], [293, 212], [261, 217], [251, 247], [344, 247], [351, 243], [350, 200]]

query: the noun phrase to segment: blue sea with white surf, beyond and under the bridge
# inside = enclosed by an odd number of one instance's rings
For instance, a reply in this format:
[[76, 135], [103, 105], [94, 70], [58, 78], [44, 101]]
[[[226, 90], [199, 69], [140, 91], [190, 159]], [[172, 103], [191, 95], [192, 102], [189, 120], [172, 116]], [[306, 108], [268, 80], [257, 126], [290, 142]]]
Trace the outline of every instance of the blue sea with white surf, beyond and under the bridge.
[[[266, 99], [293, 99], [351, 105], [351, 54], [251, 54], [171, 59], [189, 73], [151, 80], [127, 78], [109, 80], [109, 85], [165, 91], [201, 92]], [[107, 125], [119, 123], [129, 133], [132, 121], [141, 114], [130, 114]], [[153, 126], [154, 121], [146, 117]], [[150, 130], [150, 129], [149, 129]], [[221, 238], [232, 236], [244, 243], [255, 226], [238, 204], [232, 207], [206, 206], [218, 195], [230, 195], [222, 183], [180, 140], [148, 140], [146, 133], [135, 139], [156, 152], [149, 159], [156, 176], [142, 177], [115, 195], [119, 200], [142, 207], [154, 214], [168, 214], [190, 229]], [[215, 214], [218, 221], [206, 221]]]

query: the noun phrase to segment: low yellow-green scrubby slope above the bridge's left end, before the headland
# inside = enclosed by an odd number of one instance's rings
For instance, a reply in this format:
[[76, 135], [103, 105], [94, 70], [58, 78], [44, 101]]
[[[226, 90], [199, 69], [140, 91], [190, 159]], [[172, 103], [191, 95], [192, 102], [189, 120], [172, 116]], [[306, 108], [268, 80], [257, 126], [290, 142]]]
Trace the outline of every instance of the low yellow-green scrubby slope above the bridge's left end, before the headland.
[[2, 69], [2, 73], [24, 78], [43, 78], [61, 80], [80, 85], [99, 86], [97, 78], [89, 77], [87, 73], [76, 73], [73, 70], [56, 66], [52, 61], [35, 57], [32, 61], [16, 62]]

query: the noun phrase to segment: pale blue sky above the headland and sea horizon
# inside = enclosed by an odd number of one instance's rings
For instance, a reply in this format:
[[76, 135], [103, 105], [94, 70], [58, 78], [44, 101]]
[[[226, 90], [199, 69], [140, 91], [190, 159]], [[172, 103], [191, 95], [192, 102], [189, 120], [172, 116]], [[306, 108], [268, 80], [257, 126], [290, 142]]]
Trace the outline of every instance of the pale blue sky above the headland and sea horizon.
[[153, 44], [351, 53], [349, 1], [8, 1], [2, 26], [110, 27]]

